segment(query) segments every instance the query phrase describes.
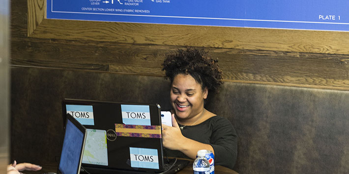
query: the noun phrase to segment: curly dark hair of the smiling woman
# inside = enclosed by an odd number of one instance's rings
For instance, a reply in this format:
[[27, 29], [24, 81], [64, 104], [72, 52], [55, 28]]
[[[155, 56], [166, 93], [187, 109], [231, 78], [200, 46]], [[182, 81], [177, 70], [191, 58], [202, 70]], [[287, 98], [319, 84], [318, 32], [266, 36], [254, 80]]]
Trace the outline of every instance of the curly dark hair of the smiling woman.
[[191, 75], [204, 89], [217, 92], [223, 84], [222, 71], [218, 66], [218, 59], [214, 59], [203, 48], [187, 47], [178, 49], [175, 54], [168, 54], [162, 63], [166, 78], [171, 83], [178, 74]]

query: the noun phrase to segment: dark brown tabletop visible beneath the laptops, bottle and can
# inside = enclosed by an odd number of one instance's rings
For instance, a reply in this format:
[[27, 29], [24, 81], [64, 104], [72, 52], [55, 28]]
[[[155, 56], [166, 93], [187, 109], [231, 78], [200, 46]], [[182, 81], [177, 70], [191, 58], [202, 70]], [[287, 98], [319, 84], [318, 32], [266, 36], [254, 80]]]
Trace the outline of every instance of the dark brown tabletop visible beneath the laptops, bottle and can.
[[[191, 161], [188, 166], [186, 166], [184, 169], [180, 170], [176, 174], [193, 174], [193, 162]], [[25, 171], [24, 174], [42, 174], [47, 172], [56, 172], [57, 171], [58, 164], [57, 163], [49, 163], [49, 164], [42, 164], [42, 170], [40, 171]], [[223, 166], [214, 166], [214, 173], [215, 174], [238, 174], [237, 172], [233, 171], [232, 169], [223, 167]]]

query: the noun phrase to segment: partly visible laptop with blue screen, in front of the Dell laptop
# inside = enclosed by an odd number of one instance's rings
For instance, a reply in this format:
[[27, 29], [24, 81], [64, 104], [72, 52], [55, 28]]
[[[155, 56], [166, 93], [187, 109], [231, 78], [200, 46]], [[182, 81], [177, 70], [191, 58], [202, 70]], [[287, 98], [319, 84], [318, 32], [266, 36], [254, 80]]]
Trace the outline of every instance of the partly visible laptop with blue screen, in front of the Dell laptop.
[[[86, 128], [66, 114], [63, 146], [57, 174], [80, 174], [83, 151], [87, 137]], [[55, 173], [48, 173], [55, 174]]]

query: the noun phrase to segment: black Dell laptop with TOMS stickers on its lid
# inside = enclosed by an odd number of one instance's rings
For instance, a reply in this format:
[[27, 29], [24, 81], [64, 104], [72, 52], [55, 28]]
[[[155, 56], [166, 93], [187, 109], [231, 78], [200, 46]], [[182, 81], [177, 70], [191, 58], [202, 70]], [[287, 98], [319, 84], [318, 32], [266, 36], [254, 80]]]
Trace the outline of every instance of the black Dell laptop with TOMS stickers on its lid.
[[158, 104], [64, 99], [62, 113], [87, 128], [82, 173], [173, 174], [189, 164], [164, 158]]

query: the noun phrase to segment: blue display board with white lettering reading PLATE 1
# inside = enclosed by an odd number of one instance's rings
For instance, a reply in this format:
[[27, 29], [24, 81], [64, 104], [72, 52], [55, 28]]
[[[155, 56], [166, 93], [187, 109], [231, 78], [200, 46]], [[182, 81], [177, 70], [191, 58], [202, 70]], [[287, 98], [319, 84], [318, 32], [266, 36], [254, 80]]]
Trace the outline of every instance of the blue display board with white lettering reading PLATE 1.
[[349, 31], [348, 7], [348, 0], [47, 0], [47, 18]]

